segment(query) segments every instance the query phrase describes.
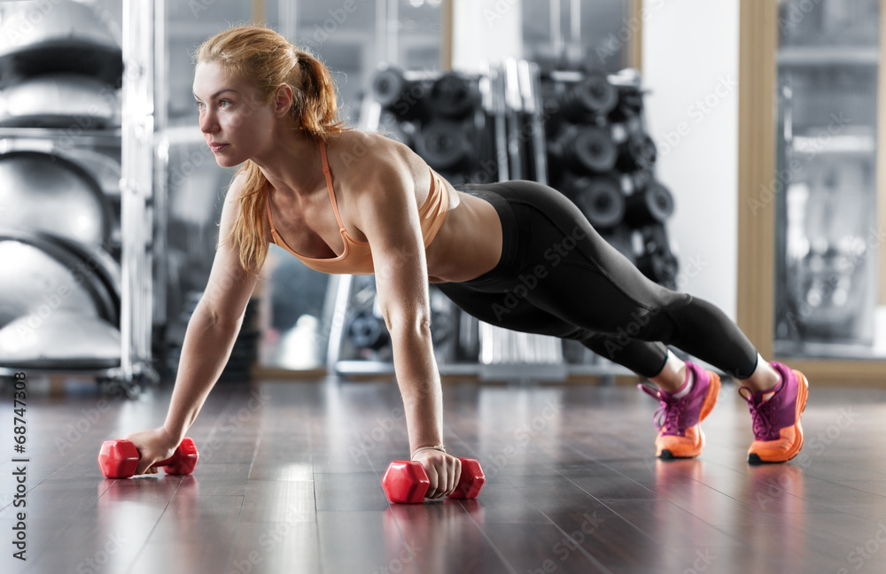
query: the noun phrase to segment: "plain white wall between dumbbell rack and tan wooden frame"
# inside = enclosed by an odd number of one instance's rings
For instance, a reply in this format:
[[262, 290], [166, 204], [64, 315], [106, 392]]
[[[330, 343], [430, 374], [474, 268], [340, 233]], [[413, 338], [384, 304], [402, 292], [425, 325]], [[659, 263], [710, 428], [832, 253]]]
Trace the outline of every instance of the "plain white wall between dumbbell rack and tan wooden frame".
[[643, 81], [680, 291], [735, 318], [739, 0], [644, 0]]

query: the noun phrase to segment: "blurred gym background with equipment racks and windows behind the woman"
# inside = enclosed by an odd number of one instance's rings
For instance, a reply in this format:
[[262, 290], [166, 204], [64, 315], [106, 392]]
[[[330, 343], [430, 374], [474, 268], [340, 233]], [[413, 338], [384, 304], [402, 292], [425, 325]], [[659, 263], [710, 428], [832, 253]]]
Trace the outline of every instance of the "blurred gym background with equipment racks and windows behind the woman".
[[[0, 3], [0, 376], [136, 395], [175, 374], [235, 172], [198, 128], [191, 57], [260, 22], [330, 67], [352, 126], [453, 183], [546, 182], [767, 357], [878, 380], [883, 20], [874, 0]], [[433, 289], [431, 306], [445, 376], [630, 375], [478, 323]], [[322, 275], [272, 245], [222, 380], [390, 360], [371, 277]]]

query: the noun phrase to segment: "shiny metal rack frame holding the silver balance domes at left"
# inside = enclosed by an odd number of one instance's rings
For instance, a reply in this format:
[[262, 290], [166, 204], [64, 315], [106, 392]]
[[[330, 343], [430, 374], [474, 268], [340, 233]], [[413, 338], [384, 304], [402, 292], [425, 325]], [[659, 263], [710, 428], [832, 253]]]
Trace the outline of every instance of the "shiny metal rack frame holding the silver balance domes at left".
[[[0, 151], [70, 154], [72, 148], [120, 147], [120, 364], [113, 368], [27, 368], [29, 376], [93, 376], [104, 391], [119, 389], [134, 398], [144, 384], [159, 380], [152, 365], [155, 200], [155, 12], [162, 2], [126, 0], [123, 4], [124, 75], [122, 128], [71, 135], [52, 128], [0, 128]], [[64, 139], [65, 145], [60, 145]], [[60, 148], [64, 149], [60, 149]], [[0, 367], [0, 377], [24, 368]]]

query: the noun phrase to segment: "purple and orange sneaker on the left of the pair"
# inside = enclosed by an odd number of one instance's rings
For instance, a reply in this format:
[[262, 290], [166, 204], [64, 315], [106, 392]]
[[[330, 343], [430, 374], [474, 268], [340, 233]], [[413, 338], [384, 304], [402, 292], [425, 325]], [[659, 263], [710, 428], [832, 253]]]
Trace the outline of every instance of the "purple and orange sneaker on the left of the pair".
[[[719, 395], [719, 376], [706, 371], [695, 363], [686, 363], [692, 373], [693, 383], [689, 392], [675, 399], [669, 392], [651, 389], [645, 384], [638, 386], [649, 396], [658, 399], [655, 416], [658, 427], [656, 438], [656, 456], [663, 459], [691, 458], [701, 454], [704, 447], [704, 433], [701, 423], [717, 403]], [[680, 394], [677, 392], [676, 394]]]

